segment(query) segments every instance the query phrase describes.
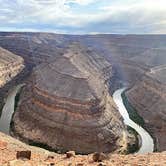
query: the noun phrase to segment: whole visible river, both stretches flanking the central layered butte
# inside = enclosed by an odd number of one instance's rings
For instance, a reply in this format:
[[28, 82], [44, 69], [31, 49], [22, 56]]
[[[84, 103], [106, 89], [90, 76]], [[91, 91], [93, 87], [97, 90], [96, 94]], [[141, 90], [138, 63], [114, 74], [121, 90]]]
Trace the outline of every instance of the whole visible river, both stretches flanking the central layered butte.
[[[2, 109], [2, 115], [0, 117], [0, 131], [3, 133], [9, 134], [10, 122], [11, 122], [12, 115], [14, 113], [15, 96], [20, 91], [22, 86], [23, 85], [16, 86], [9, 93], [6, 99], [6, 103]], [[146, 130], [144, 130], [141, 126], [133, 122], [129, 117], [129, 114], [123, 104], [123, 100], [121, 96], [124, 90], [125, 88], [116, 90], [113, 94], [113, 100], [116, 103], [117, 107], [119, 108], [119, 112], [124, 119], [124, 123], [132, 127], [133, 129], [135, 129], [141, 137], [141, 147], [137, 153], [144, 154], [148, 152], [153, 152], [154, 143], [153, 143], [152, 137], [149, 135], [149, 133]]]

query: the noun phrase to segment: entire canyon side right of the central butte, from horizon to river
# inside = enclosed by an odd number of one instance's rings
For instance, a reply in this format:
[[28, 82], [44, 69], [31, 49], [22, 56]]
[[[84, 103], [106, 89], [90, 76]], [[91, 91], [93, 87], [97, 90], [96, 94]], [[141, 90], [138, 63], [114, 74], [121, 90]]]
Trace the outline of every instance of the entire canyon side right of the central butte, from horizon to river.
[[130, 103], [156, 138], [157, 150], [166, 150], [166, 36], [99, 35], [82, 40], [114, 64], [116, 73], [111, 87], [119, 80], [132, 87], [127, 93]]

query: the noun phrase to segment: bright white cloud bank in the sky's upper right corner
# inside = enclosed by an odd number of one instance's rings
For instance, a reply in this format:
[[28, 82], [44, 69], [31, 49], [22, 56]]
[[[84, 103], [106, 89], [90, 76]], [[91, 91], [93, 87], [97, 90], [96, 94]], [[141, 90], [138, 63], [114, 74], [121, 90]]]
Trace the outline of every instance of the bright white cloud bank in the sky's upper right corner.
[[[109, 15], [110, 21], [128, 24], [130, 27], [156, 29], [166, 28], [166, 1], [140, 0], [115, 3], [100, 8]], [[150, 31], [151, 33], [152, 31]], [[163, 32], [163, 30], [162, 30]]]

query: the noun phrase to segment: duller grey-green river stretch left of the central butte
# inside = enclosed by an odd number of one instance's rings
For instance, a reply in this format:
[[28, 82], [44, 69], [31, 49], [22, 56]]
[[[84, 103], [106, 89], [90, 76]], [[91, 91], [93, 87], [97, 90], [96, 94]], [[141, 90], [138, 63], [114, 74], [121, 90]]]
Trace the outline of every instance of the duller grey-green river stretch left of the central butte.
[[12, 115], [14, 113], [15, 97], [16, 97], [17, 93], [20, 91], [22, 86], [23, 86], [23, 84], [16, 86], [8, 94], [8, 97], [6, 99], [6, 103], [2, 109], [2, 115], [0, 117], [0, 131], [5, 133], [5, 134], [8, 134], [8, 135], [9, 135], [9, 131], [10, 131], [11, 118], [12, 118]]

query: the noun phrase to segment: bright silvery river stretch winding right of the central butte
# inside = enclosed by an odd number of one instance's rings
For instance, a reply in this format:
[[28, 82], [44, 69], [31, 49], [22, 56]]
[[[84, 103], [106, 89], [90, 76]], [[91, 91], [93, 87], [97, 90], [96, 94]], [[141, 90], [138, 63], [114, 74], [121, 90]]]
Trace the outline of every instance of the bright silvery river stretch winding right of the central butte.
[[126, 125], [132, 127], [133, 129], [135, 129], [135, 131], [137, 131], [137, 133], [141, 137], [141, 147], [137, 153], [138, 154], [145, 154], [145, 153], [153, 152], [154, 142], [153, 142], [152, 137], [145, 129], [143, 129], [141, 126], [139, 126], [138, 124], [136, 124], [134, 121], [132, 121], [130, 119], [129, 114], [126, 110], [126, 107], [123, 104], [123, 100], [122, 100], [121, 95], [125, 89], [126, 88], [121, 88], [121, 89], [116, 90], [113, 94], [113, 100], [116, 103], [116, 105], [119, 109], [119, 112], [124, 119], [124, 123]]

